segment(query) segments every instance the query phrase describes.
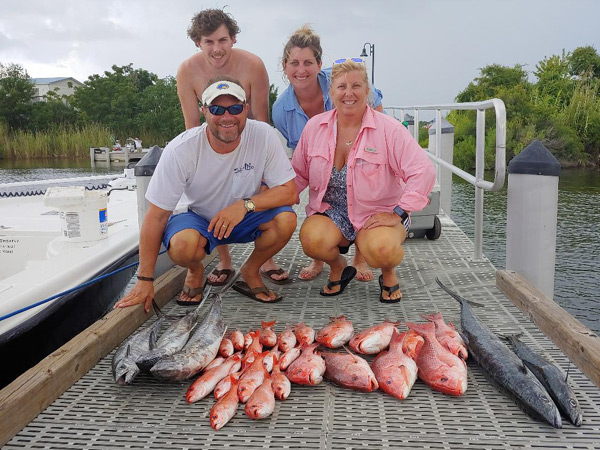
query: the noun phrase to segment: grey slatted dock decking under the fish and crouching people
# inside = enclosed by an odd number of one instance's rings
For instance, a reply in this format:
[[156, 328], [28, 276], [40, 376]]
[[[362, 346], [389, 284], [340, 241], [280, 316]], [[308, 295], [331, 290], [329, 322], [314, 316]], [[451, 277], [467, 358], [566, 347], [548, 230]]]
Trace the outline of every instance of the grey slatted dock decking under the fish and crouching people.
[[[304, 217], [303, 209], [296, 208], [299, 223]], [[564, 419], [563, 428], [554, 429], [529, 418], [469, 360], [469, 386], [462, 397], [433, 391], [420, 380], [404, 401], [381, 391], [355, 392], [329, 381], [314, 387], [292, 385], [290, 397], [277, 401], [271, 417], [251, 420], [240, 406], [225, 427], [214, 431], [208, 418], [214, 403], [212, 397], [189, 405], [185, 393], [191, 381], [165, 384], [149, 375], [138, 376], [131, 386], [118, 386], [112, 378], [111, 352], [14, 435], [4, 449], [600, 448], [598, 387], [496, 287], [496, 269], [487, 260], [473, 260], [473, 243], [464, 232], [448, 217], [441, 216], [441, 222], [438, 240], [412, 239], [406, 243], [405, 260], [397, 270], [404, 294], [401, 303], [385, 305], [378, 301], [378, 271], [373, 281], [352, 281], [341, 296], [321, 297], [318, 292], [326, 283], [325, 273], [314, 281], [297, 279], [308, 258], [296, 232], [276, 256], [276, 261], [290, 270], [294, 282], [284, 286], [269, 284], [283, 294], [284, 300], [262, 304], [228, 290], [223, 295], [226, 323], [230, 329], [247, 332], [260, 327], [261, 321], [277, 320], [275, 330], [279, 333], [286, 325], [298, 322], [318, 329], [330, 317], [343, 314], [352, 320], [355, 330], [361, 330], [384, 319], [423, 322], [420, 314], [440, 311], [447, 322], [460, 328], [459, 305], [437, 286], [434, 280], [439, 277], [465, 298], [483, 304], [475, 312], [494, 332], [523, 333], [524, 342], [568, 372], [569, 383], [583, 409], [581, 427]], [[238, 268], [252, 250], [251, 245], [230, 248]], [[211, 263], [207, 270], [215, 264]], [[179, 277], [175, 290], [180, 289], [181, 280]], [[163, 310], [173, 315], [189, 311], [174, 301]], [[117, 316], [109, 314], [103, 326], [110, 327], [110, 321], [117, 321]], [[123, 320], [114, 325], [113, 334], [122, 326]], [[405, 328], [400, 325], [399, 329]], [[114, 346], [111, 336], [108, 332], [95, 338], [98, 345], [104, 342]], [[93, 350], [85, 352], [92, 353]], [[81, 370], [80, 362], [72, 361], [68, 370]], [[22, 385], [26, 386], [26, 382]], [[45, 392], [51, 395], [48, 390]], [[0, 396], [0, 400], [6, 397]], [[34, 402], [35, 399], [30, 403]], [[5, 412], [0, 406], [0, 424], [7, 419]]]

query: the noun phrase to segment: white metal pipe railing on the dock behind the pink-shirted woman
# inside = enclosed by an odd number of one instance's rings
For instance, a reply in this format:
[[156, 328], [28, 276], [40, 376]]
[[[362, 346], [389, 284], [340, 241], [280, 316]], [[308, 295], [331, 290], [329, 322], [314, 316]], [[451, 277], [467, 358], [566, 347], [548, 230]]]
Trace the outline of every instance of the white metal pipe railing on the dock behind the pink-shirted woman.
[[[496, 113], [496, 160], [494, 163], [495, 175], [492, 182], [484, 180], [485, 168], [485, 111], [494, 109]], [[475, 138], [475, 176], [462, 169], [459, 169], [452, 164], [452, 161], [446, 161], [441, 157], [442, 152], [442, 111], [452, 110], [476, 110], [476, 138]], [[458, 175], [463, 180], [468, 181], [475, 186], [475, 242], [474, 242], [474, 258], [481, 260], [483, 258], [483, 192], [484, 190], [499, 191], [504, 186], [506, 176], [506, 107], [504, 102], [498, 98], [485, 100], [482, 102], [469, 103], [448, 103], [441, 105], [417, 105], [417, 106], [390, 106], [386, 107], [385, 111], [394, 116], [396, 112], [400, 113], [400, 120], [404, 120], [406, 111], [414, 113], [413, 136], [419, 140], [419, 112], [420, 111], [435, 111], [435, 155], [429, 153], [429, 157], [438, 165], [439, 169], [445, 168], [452, 173]], [[398, 117], [397, 117], [398, 118]], [[452, 179], [449, 177], [450, 180]], [[451, 181], [450, 181], [451, 183]], [[442, 186], [443, 189], [451, 189], [450, 186]], [[447, 211], [449, 213], [449, 211]]]

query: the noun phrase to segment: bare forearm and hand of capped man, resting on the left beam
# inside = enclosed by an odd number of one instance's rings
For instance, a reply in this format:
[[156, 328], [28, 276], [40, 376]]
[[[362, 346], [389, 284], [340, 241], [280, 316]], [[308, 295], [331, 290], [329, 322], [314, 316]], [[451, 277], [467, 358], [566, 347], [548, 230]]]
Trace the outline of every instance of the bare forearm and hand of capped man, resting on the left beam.
[[[138, 275], [141, 277], [152, 278], [154, 276], [154, 267], [156, 266], [156, 259], [160, 251], [163, 232], [170, 215], [171, 211], [166, 211], [150, 203], [150, 207], [142, 222], [142, 229], [140, 230], [140, 265], [138, 267]], [[150, 311], [153, 298], [154, 284], [151, 281], [138, 280], [133, 289], [115, 304], [115, 308], [124, 308], [144, 303], [144, 309], [148, 312]]]

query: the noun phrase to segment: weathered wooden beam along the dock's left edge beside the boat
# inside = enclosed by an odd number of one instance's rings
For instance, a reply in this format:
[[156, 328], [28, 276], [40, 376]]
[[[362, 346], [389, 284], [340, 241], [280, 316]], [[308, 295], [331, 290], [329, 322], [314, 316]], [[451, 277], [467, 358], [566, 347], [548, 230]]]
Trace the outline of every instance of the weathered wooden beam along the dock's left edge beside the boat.
[[[212, 259], [212, 258], [211, 258]], [[176, 266], [154, 283], [166, 305], [181, 290], [186, 270]], [[143, 305], [118, 308], [89, 326], [0, 391], [0, 447], [154, 314]]]

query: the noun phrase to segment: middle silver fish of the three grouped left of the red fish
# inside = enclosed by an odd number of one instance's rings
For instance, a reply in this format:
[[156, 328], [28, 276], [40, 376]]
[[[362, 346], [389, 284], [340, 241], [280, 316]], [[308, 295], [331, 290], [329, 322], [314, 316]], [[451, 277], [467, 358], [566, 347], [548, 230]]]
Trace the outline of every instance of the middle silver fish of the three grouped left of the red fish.
[[177, 353], [187, 343], [190, 333], [198, 323], [198, 309], [174, 322], [156, 341], [156, 347], [140, 355], [138, 366], [148, 371], [160, 359]]

